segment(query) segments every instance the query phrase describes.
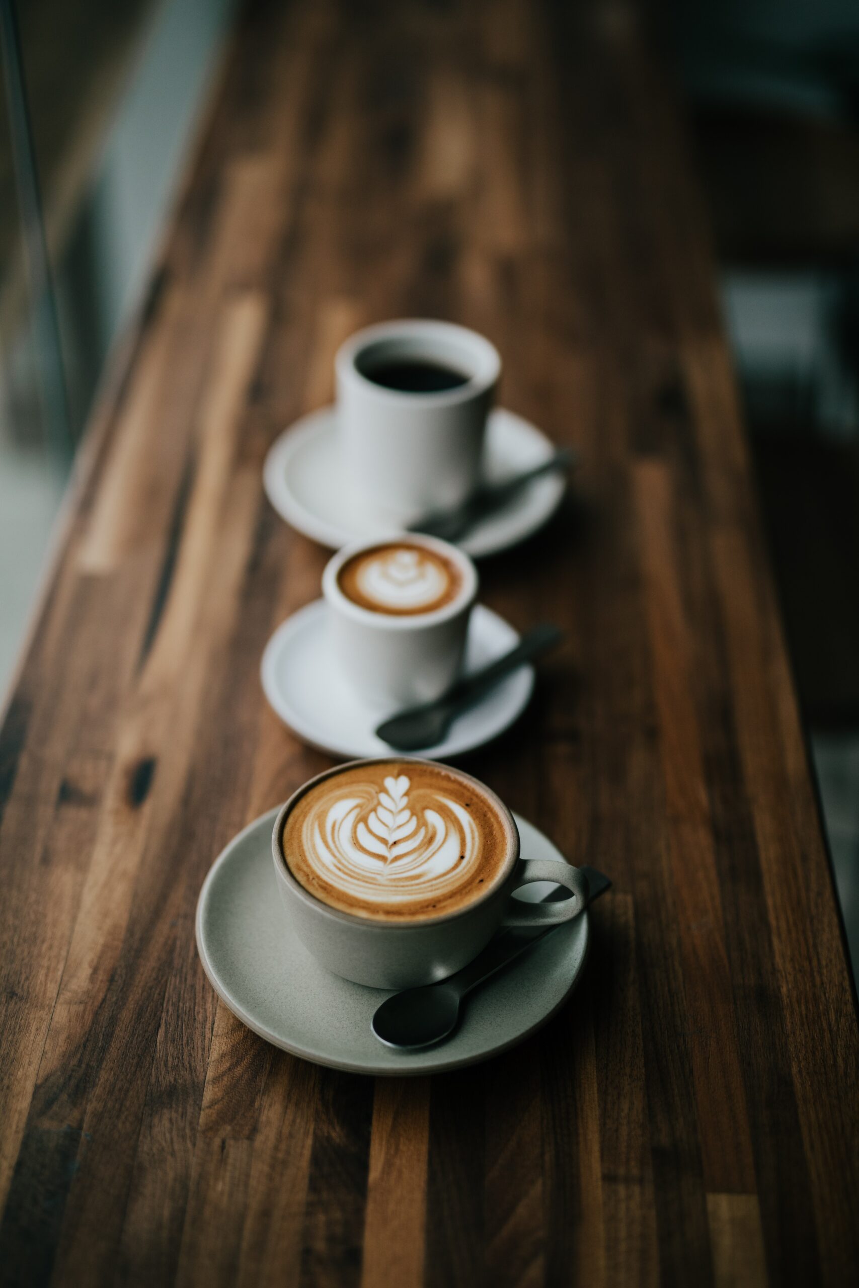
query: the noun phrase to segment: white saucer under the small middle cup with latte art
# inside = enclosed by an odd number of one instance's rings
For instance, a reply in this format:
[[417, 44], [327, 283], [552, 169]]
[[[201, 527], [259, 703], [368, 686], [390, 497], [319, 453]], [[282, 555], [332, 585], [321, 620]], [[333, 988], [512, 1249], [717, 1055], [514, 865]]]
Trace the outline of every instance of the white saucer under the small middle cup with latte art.
[[[263, 690], [276, 715], [312, 747], [349, 760], [390, 751], [373, 730], [394, 711], [362, 702], [343, 677], [326, 630], [325, 600], [317, 599], [278, 626], [265, 645]], [[478, 604], [471, 613], [465, 671], [486, 666], [518, 644], [513, 626]], [[447, 738], [420, 752], [447, 760], [497, 738], [524, 711], [534, 685], [532, 666], [522, 666], [453, 721]]]

